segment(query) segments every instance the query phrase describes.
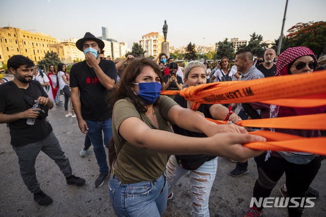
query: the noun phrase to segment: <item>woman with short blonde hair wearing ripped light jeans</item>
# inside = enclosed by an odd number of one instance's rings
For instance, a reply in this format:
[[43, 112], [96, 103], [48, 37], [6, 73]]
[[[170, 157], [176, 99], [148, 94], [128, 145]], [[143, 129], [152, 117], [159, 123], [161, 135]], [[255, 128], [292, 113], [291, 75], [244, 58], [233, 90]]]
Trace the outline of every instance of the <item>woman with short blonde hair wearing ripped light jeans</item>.
[[[188, 87], [206, 84], [206, 69], [198, 61], [189, 62], [184, 69], [184, 84]], [[192, 101], [186, 101], [182, 96], [176, 95], [174, 100], [183, 108], [191, 108]], [[197, 110], [205, 118], [224, 120], [228, 115], [228, 108], [221, 104], [201, 104]], [[233, 123], [240, 121], [235, 113], [229, 117]], [[206, 137], [204, 133], [192, 132], [177, 125], [173, 125], [177, 134], [187, 137]], [[209, 216], [208, 202], [212, 184], [218, 169], [218, 157], [209, 155], [172, 155], [167, 164], [168, 199], [173, 197], [173, 186], [190, 170], [192, 215]]]

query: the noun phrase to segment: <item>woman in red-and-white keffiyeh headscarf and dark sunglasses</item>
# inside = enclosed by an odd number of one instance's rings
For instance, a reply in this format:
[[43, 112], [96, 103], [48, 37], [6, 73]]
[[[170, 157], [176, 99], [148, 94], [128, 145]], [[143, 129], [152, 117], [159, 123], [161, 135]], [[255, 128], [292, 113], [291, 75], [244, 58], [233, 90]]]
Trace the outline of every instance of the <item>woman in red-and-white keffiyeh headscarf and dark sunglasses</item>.
[[[291, 47], [281, 53], [276, 67], [275, 76], [288, 76], [314, 72], [316, 71], [317, 62], [314, 53], [309, 48]], [[270, 118], [320, 114], [325, 111], [326, 106], [300, 108], [270, 105]], [[273, 129], [272, 131], [307, 138], [320, 137], [319, 130]], [[295, 160], [288, 158], [291, 154], [296, 155]], [[310, 156], [309, 159], [308, 156]], [[254, 186], [254, 199], [259, 201], [261, 198], [264, 200], [269, 197], [271, 191], [285, 173], [288, 196], [290, 198], [300, 198], [295, 200], [299, 204], [298, 207], [295, 207], [295, 203], [292, 203], [293, 201], [289, 199], [288, 214], [289, 216], [301, 216], [306, 202], [306, 193], [320, 168], [320, 156], [302, 152], [267, 151], [267, 154], [263, 153], [255, 157], [255, 161], [257, 163], [258, 179]], [[252, 207], [244, 216], [260, 216], [263, 209], [262, 204], [259, 205], [254, 202], [251, 205]]]

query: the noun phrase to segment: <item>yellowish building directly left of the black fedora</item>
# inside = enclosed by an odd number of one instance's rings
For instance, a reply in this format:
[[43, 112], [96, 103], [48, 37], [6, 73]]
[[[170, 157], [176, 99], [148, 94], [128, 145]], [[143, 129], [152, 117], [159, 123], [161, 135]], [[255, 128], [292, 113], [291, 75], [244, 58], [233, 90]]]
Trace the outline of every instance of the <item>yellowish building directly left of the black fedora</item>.
[[76, 38], [71, 38], [59, 43], [49, 44], [50, 51], [56, 52], [62, 63], [72, 64], [85, 60], [85, 54], [76, 47]]

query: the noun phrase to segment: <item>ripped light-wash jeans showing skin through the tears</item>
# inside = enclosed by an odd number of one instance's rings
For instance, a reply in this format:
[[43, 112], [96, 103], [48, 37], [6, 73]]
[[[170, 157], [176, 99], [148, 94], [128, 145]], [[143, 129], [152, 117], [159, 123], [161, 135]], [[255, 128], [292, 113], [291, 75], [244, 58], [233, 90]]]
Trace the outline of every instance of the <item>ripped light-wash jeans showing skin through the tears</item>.
[[[197, 170], [185, 170], [180, 167], [174, 155], [171, 155], [167, 164], [169, 195], [173, 186], [188, 171], [190, 172], [192, 215], [209, 216], [208, 201], [216, 170], [218, 169], [218, 157], [206, 161]], [[185, 186], [185, 185], [184, 185]]]

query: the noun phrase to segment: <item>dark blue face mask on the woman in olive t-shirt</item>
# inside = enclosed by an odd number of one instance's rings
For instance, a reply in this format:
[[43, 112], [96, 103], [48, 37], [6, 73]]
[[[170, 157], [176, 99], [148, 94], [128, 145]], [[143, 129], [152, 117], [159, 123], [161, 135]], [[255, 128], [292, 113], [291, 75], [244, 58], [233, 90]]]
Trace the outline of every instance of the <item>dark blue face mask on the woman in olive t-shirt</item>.
[[154, 104], [159, 94], [161, 93], [162, 85], [157, 82], [144, 82], [144, 83], [132, 83], [132, 84], [139, 86], [138, 96], [141, 97], [142, 100], [147, 105]]

